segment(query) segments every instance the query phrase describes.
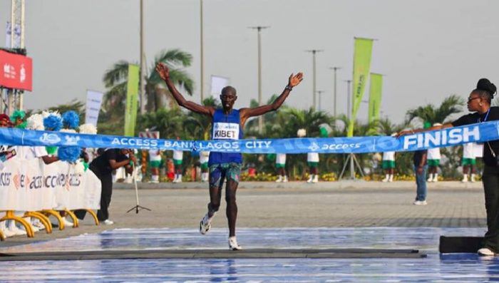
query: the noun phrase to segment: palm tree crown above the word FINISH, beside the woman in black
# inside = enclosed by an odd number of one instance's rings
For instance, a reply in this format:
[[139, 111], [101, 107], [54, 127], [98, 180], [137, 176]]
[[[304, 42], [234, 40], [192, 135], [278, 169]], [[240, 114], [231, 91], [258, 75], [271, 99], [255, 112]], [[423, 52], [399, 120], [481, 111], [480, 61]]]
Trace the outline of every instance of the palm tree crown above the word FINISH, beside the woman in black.
[[406, 124], [411, 123], [414, 118], [419, 118], [423, 120], [423, 122], [429, 122], [431, 125], [434, 123], [443, 124], [449, 116], [460, 113], [462, 111], [461, 106], [464, 106], [464, 104], [463, 98], [453, 94], [445, 98], [438, 108], [428, 104], [426, 106], [419, 106], [418, 108], [408, 110], [406, 114]]

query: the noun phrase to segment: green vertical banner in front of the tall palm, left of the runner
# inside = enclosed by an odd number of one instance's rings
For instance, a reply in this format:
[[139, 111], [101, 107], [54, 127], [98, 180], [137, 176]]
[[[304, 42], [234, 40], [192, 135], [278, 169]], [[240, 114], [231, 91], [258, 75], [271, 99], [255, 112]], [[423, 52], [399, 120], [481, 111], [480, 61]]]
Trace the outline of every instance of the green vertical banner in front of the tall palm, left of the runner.
[[135, 135], [137, 121], [139, 67], [128, 65], [128, 83], [126, 86], [125, 136]]

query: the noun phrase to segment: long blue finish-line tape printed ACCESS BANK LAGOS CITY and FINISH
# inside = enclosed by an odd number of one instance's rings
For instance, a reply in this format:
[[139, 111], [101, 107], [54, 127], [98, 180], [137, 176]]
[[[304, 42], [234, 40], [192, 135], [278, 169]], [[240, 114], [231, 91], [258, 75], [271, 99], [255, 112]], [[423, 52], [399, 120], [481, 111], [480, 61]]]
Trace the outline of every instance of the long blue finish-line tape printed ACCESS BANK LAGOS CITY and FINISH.
[[81, 148], [206, 150], [226, 153], [377, 153], [441, 148], [499, 140], [499, 121], [433, 130], [399, 138], [284, 138], [277, 140], [160, 140], [117, 135], [87, 135], [19, 128], [0, 128], [0, 145], [53, 145]]

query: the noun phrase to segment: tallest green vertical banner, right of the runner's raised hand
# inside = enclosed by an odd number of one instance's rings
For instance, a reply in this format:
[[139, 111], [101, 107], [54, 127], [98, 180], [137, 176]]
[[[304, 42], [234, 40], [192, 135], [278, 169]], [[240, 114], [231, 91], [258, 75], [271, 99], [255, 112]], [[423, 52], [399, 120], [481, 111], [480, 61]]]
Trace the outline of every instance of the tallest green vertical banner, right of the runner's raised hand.
[[[354, 86], [352, 87], [352, 108], [351, 120], [347, 137], [354, 136], [354, 123], [357, 110], [361, 105], [364, 89], [369, 79], [369, 68], [371, 68], [371, 53], [373, 50], [373, 40], [369, 38], [355, 38], [354, 43]], [[350, 110], [350, 109], [349, 109]]]

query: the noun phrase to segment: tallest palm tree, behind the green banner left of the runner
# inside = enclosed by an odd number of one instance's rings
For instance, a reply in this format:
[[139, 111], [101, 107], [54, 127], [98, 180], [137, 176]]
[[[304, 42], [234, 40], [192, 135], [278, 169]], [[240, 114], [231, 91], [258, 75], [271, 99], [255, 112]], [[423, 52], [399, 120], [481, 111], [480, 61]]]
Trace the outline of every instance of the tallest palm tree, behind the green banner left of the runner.
[[[161, 51], [155, 57], [155, 61], [150, 70], [140, 76], [145, 76], [145, 93], [148, 97], [147, 109], [150, 111], [158, 110], [163, 107], [162, 98], [168, 100], [168, 91], [162, 87], [163, 80], [155, 71], [155, 64], [163, 62], [170, 68], [170, 78], [172, 81], [183, 88], [187, 94], [192, 96], [194, 82], [185, 71], [179, 70], [177, 67], [188, 67], [192, 61], [192, 56], [189, 53], [172, 49], [169, 51]], [[120, 117], [125, 111], [126, 87], [128, 83], [128, 65], [130, 62], [121, 60], [115, 63], [113, 68], [110, 68], [104, 73], [103, 82], [108, 91], [104, 94], [103, 108], [117, 113]], [[136, 62], [135, 62], [136, 64]]]

